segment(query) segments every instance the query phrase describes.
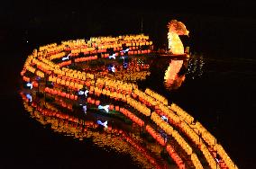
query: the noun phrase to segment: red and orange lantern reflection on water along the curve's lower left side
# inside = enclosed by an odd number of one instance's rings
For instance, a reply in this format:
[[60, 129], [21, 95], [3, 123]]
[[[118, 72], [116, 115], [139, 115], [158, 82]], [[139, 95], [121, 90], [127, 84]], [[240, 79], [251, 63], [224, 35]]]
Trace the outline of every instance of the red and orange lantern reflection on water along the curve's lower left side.
[[[86, 141], [89, 139], [94, 146], [102, 147], [105, 151], [114, 150], [121, 156], [129, 155], [135, 164], [142, 168], [162, 168], [166, 165], [160, 157], [162, 148], [160, 145], [148, 143], [140, 137], [141, 129], [132, 125], [131, 129], [125, 127], [116, 128], [112, 121], [108, 128], [96, 123], [97, 116], [91, 113], [86, 118], [79, 119], [70, 114], [59, 111], [53, 103], [38, 100], [30, 102], [23, 91], [23, 105], [30, 112], [32, 118], [41, 122], [42, 125], [68, 137]], [[32, 95], [35, 98], [35, 95]], [[59, 101], [59, 100], [58, 100]], [[63, 103], [63, 101], [61, 100]], [[61, 105], [61, 104], [60, 104]], [[109, 120], [107, 117], [103, 119]], [[112, 126], [113, 124], [113, 126]], [[132, 132], [133, 131], [133, 132]]]

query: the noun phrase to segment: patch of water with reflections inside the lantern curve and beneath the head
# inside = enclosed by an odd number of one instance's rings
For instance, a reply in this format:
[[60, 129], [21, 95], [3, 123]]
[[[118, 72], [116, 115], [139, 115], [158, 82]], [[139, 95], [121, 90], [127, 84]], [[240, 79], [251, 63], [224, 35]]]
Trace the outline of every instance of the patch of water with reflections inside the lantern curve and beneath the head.
[[[166, 65], [168, 64], [168, 65]], [[92, 72], [92, 65], [78, 64], [76, 68]], [[205, 60], [202, 55], [193, 54], [190, 58], [137, 57], [117, 58], [104, 63], [93, 64], [98, 77], [109, 77], [125, 82], [156, 84], [154, 80], [163, 80], [163, 86], [171, 91], [177, 90], [188, 79], [197, 79], [204, 74]], [[156, 72], [164, 72], [157, 74]], [[154, 82], [152, 82], [154, 81]]]

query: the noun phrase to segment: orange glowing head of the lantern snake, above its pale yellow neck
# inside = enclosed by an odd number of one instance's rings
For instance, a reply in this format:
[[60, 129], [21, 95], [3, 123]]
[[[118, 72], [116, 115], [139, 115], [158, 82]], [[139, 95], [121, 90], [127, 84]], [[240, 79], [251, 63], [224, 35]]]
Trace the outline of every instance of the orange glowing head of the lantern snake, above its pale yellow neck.
[[187, 35], [189, 31], [187, 31], [187, 28], [183, 22], [178, 22], [177, 20], [171, 20], [168, 23], [168, 29], [169, 32], [175, 32], [178, 35]]

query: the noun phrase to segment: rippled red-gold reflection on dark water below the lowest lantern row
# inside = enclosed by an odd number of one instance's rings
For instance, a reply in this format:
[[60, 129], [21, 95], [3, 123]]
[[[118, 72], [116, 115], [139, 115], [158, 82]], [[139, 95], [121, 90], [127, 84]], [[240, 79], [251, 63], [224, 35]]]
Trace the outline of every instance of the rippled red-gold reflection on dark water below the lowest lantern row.
[[[25, 96], [22, 93], [23, 100]], [[133, 135], [130, 136], [122, 129], [115, 129], [109, 126], [104, 132], [96, 130], [98, 124], [92, 120], [78, 120], [76, 117], [64, 114], [58, 111], [54, 106], [47, 103], [43, 108], [32, 103], [23, 102], [27, 111], [41, 124], [51, 124], [51, 129], [56, 132], [64, 133], [66, 136], [72, 136], [83, 140], [91, 138], [98, 147], [108, 147], [118, 151], [118, 153], [130, 154], [133, 161], [142, 168], [162, 168], [160, 162], [155, 156], [152, 156], [148, 149], [142, 147], [142, 140]], [[158, 152], [160, 154], [160, 150]], [[150, 163], [149, 163], [150, 162]]]

